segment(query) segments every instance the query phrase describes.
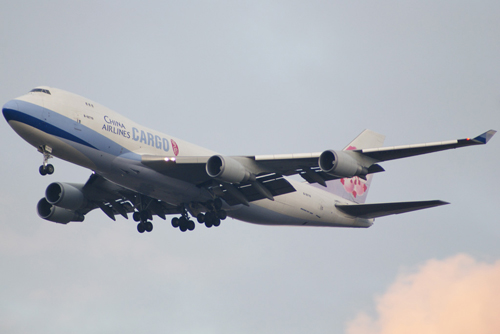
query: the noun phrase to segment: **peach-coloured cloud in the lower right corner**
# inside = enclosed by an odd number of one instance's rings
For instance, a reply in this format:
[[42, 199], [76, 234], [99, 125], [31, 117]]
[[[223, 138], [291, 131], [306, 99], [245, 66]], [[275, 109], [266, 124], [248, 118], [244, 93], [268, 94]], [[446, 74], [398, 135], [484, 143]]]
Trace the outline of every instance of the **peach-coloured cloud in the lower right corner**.
[[376, 317], [359, 313], [347, 334], [500, 333], [500, 260], [459, 254], [399, 275], [376, 300]]

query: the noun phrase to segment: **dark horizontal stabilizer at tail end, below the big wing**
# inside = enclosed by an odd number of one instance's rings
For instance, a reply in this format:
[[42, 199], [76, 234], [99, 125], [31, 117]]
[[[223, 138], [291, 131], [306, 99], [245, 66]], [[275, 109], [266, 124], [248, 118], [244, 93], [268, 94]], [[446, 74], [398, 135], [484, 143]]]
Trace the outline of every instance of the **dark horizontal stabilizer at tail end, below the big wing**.
[[397, 215], [400, 213], [428, 209], [435, 206], [450, 204], [443, 201], [416, 201], [416, 202], [394, 202], [374, 204], [336, 204], [340, 211], [350, 216], [361, 218], [377, 218], [383, 216]]

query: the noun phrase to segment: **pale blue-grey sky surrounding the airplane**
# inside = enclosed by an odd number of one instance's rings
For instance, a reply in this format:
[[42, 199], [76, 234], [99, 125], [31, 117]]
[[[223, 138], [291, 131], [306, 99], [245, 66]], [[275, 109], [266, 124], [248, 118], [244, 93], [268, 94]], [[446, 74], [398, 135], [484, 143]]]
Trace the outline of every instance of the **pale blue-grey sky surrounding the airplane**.
[[[499, 16], [498, 1], [4, 1], [0, 102], [54, 86], [228, 155], [340, 149], [365, 128], [388, 146], [464, 138], [500, 130]], [[368, 202], [452, 205], [366, 230], [155, 219], [145, 235], [97, 211], [38, 218], [50, 182], [90, 171], [55, 159], [41, 177], [5, 121], [0, 142], [2, 333], [368, 333], [360, 314], [386, 333], [405, 275], [500, 268], [496, 137], [385, 163]]]

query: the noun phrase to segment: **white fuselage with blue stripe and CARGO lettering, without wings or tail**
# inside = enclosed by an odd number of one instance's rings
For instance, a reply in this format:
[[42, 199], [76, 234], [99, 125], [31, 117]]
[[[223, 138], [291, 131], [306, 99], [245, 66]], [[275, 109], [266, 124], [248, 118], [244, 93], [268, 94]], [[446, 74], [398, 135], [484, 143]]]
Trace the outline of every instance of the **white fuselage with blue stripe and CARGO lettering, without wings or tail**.
[[[55, 88], [50, 95], [31, 92], [8, 102], [19, 111], [11, 127], [35, 147], [47, 145], [52, 155], [96, 171], [135, 192], [181, 204], [211, 199], [204, 188], [165, 176], [141, 163], [142, 155], [212, 156], [214, 151], [143, 127], [81, 96]], [[230, 217], [256, 224], [369, 227], [373, 219], [339, 211], [346, 199], [308, 183], [288, 180], [295, 192], [263, 199], [250, 206], [225, 205]], [[352, 203], [355, 204], [355, 203]]]

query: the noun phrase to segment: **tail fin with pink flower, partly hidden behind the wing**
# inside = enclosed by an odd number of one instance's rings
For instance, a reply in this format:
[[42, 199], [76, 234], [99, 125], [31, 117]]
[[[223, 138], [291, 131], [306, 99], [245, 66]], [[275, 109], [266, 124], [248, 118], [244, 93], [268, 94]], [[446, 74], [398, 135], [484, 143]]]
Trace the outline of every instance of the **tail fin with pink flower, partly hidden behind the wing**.
[[[364, 130], [344, 148], [344, 151], [382, 147], [384, 139], [384, 135], [371, 130]], [[355, 176], [340, 180], [326, 181], [326, 191], [355, 203], [365, 203], [372, 178], [373, 175], [369, 174], [366, 180]], [[321, 185], [313, 185], [325, 189]]]

